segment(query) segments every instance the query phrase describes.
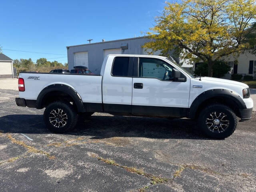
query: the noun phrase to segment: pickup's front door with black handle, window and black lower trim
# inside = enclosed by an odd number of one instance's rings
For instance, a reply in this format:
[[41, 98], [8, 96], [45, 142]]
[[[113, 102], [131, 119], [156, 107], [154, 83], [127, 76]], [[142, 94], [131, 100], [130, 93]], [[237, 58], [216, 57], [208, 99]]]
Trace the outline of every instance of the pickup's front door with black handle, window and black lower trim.
[[190, 78], [172, 78], [173, 68], [159, 58], [134, 58], [132, 114], [186, 116]]

